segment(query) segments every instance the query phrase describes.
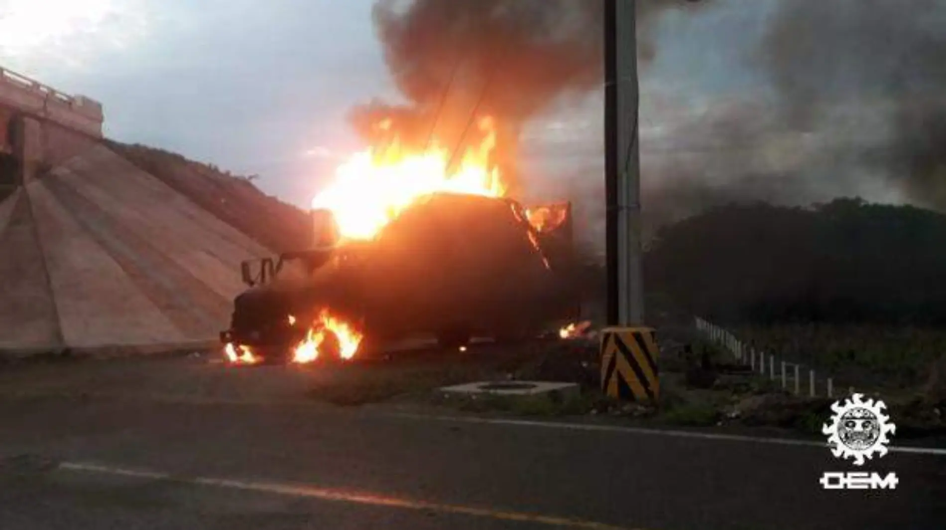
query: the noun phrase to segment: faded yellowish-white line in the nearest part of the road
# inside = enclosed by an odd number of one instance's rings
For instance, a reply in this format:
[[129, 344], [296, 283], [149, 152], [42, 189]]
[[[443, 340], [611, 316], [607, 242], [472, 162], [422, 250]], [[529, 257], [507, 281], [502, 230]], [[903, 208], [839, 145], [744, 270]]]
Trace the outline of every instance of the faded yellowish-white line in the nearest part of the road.
[[[275, 483], [275, 482], [256, 482], [247, 480], [232, 480], [212, 477], [179, 477], [172, 473], [151, 471], [151, 470], [132, 470], [122, 467], [109, 465], [82, 463], [82, 462], [62, 462], [59, 465], [60, 470], [69, 470], [74, 472], [97, 473], [113, 476], [124, 476], [144, 480], [167, 480], [181, 484], [205, 487], [223, 487], [228, 489], [238, 489], [243, 491], [253, 491], [256, 493], [268, 493], [274, 495], [283, 495], [289, 497], [304, 497], [308, 499], [319, 499], [322, 501], [333, 501], [350, 504], [369, 504], [375, 506], [386, 506], [393, 508], [403, 508], [412, 510], [433, 511], [440, 513], [450, 513], [467, 515], [473, 517], [482, 517], [487, 519], [498, 519], [502, 521], [520, 521], [534, 522], [548, 526], [557, 526], [560, 528], [577, 528], [582, 530], [632, 530], [627, 527], [615, 526], [604, 522], [585, 521], [580, 519], [569, 519], [559, 516], [550, 516], [526, 512], [517, 512], [502, 508], [487, 508], [478, 506], [467, 506], [463, 504], [440, 504], [430, 501], [413, 500], [403, 497], [392, 497], [376, 493], [355, 492], [350, 490], [336, 489], [331, 487], [318, 487], [304, 484]], [[642, 530], [642, 529], [637, 529]]]

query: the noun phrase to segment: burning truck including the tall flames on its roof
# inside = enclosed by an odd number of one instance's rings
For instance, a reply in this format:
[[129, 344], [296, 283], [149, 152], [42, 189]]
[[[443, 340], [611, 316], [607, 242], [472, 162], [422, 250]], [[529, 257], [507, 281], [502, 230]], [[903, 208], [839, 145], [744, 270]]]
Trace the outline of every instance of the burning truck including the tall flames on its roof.
[[394, 138], [342, 164], [312, 201], [312, 248], [243, 264], [229, 359], [350, 359], [418, 335], [458, 349], [574, 320], [570, 204], [507, 197], [492, 123], [478, 127], [457, 163]]

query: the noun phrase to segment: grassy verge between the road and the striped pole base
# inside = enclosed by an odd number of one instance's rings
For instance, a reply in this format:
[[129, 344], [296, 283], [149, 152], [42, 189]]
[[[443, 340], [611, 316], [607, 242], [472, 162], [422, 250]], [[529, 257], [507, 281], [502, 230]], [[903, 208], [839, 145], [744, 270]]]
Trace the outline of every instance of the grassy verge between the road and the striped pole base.
[[[693, 343], [693, 354], [697, 359], [706, 351], [717, 361], [731, 361], [718, 348], [699, 342]], [[472, 381], [502, 381], [512, 375], [522, 379], [542, 379], [548, 374], [536, 367], [550, 359], [570, 358], [573, 353], [550, 354], [547, 350], [528, 354], [511, 355], [504, 351], [490, 356], [486, 350], [475, 355], [459, 356], [450, 360], [435, 359], [412, 363], [378, 363], [349, 365], [337, 368], [311, 390], [311, 397], [338, 405], [360, 405], [374, 402], [407, 401], [439, 405], [454, 410], [475, 414], [500, 414], [526, 418], [561, 418], [585, 416], [596, 413], [610, 420], [640, 419], [656, 421], [657, 424], [689, 427], [711, 427], [719, 422], [738, 423], [746, 427], [764, 426], [792, 429], [799, 433], [820, 436], [822, 424], [830, 417], [827, 410], [831, 400], [810, 400], [805, 396], [794, 397], [780, 388], [778, 381], [769, 381], [751, 374], [721, 374], [716, 385], [710, 388], [695, 388], [687, 383], [686, 374], [680, 371], [661, 372], [661, 396], [656, 408], [635, 403], [619, 402], [604, 397], [594, 381], [584, 381], [581, 393], [569, 398], [510, 398], [498, 395], [458, 397], [437, 391], [441, 386]], [[578, 368], [571, 365], [557, 366], [551, 373], [570, 374], [569, 378], [581, 379]], [[562, 369], [568, 368], [568, 369]], [[321, 368], [320, 368], [321, 369]], [[588, 368], [597, 373], [597, 368]], [[841, 386], [836, 386], [840, 392]], [[890, 402], [895, 396], [913, 395], [914, 392], [881, 390], [881, 395]], [[758, 396], [758, 398], [754, 398]], [[769, 399], [771, 398], [771, 399]], [[752, 400], [756, 401], [752, 401]], [[748, 408], [746, 408], [748, 407]], [[909, 407], [913, 410], [917, 407]], [[918, 436], [938, 428], [942, 421], [929, 417], [935, 411], [923, 409], [917, 418], [915, 430]], [[733, 414], [739, 411], [739, 414]], [[919, 409], [918, 409], [919, 410]], [[944, 409], [946, 410], [946, 409]], [[941, 414], [942, 411], [940, 411]], [[614, 418], [612, 418], [614, 417]], [[898, 410], [897, 418], [907, 427], [907, 414]], [[910, 418], [913, 419], [913, 418]]]

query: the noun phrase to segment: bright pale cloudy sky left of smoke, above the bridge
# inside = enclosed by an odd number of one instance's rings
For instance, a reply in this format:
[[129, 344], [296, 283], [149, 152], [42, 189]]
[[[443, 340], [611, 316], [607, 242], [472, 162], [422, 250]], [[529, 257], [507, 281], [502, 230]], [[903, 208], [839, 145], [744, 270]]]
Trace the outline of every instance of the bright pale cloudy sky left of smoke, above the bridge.
[[40, 25], [30, 13], [43, 9], [22, 8], [33, 2], [77, 14], [58, 36], [8, 39], [0, 65], [101, 101], [115, 140], [259, 174], [300, 205], [337, 162], [305, 153], [358, 149], [345, 112], [392, 90], [373, 0], [0, 0], [0, 11]]

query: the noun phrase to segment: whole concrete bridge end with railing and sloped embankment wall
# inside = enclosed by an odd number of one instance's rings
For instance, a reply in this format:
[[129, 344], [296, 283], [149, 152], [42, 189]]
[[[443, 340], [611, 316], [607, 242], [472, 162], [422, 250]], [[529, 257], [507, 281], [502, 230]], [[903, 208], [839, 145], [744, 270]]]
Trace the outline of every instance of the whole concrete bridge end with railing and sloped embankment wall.
[[272, 253], [206, 209], [227, 183], [186, 161], [156, 176], [102, 121], [96, 101], [0, 69], [0, 355], [212, 344], [240, 261]]

